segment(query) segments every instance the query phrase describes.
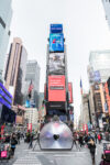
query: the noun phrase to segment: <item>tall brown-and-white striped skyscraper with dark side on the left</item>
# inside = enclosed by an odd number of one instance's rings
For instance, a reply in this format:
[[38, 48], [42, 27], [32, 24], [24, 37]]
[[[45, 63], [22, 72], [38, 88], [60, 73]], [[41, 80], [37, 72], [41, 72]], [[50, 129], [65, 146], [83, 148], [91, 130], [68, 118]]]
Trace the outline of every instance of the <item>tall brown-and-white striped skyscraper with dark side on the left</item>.
[[28, 53], [19, 37], [10, 46], [6, 69], [6, 87], [12, 94], [12, 105], [23, 103]]

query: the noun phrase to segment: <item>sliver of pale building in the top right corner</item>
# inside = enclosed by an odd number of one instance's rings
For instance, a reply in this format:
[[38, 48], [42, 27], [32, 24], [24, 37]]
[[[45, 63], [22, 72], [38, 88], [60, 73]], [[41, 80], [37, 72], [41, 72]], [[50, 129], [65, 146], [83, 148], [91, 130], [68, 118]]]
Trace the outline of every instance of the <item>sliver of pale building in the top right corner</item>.
[[110, 28], [110, 0], [102, 0], [102, 3], [106, 11], [106, 20], [108, 21]]

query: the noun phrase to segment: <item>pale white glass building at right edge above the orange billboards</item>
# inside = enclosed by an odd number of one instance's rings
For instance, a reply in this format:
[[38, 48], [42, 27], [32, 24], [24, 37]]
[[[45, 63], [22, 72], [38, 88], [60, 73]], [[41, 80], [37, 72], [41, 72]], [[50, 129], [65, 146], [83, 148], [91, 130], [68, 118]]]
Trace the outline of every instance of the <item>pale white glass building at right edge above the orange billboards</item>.
[[106, 82], [110, 77], [110, 51], [91, 52], [89, 66], [94, 72], [99, 70], [101, 82]]

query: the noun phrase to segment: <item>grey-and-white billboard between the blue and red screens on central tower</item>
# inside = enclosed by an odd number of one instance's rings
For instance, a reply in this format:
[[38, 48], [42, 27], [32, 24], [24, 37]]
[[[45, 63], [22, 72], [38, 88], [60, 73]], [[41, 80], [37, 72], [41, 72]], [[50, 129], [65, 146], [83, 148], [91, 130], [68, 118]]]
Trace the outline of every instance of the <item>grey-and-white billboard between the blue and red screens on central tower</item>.
[[51, 53], [48, 56], [48, 74], [65, 75], [65, 55], [64, 53]]

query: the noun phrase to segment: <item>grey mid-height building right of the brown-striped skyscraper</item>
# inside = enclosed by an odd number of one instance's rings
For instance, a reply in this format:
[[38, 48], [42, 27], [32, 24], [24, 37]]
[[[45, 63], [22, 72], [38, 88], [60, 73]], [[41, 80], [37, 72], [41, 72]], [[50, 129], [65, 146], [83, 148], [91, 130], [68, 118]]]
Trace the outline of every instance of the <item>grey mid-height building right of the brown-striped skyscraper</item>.
[[35, 103], [38, 109], [38, 94], [40, 94], [40, 66], [36, 61], [29, 61], [26, 63], [26, 77], [25, 77], [25, 100], [28, 99], [28, 92], [30, 84], [33, 85], [31, 103]]

